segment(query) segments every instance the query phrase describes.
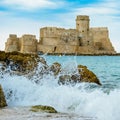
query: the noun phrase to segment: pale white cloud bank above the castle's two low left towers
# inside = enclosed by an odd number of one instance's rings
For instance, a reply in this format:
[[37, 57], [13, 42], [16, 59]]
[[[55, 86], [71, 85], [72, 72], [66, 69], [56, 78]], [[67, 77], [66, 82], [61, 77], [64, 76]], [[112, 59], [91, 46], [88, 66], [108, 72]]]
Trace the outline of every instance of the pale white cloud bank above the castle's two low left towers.
[[[58, 21], [49, 21], [49, 20], [31, 20], [27, 18], [18, 18], [8, 16], [8, 13], [0, 15], [0, 50], [4, 50], [5, 42], [9, 37], [9, 34], [16, 34], [18, 37], [21, 37], [23, 34], [32, 34], [36, 35], [36, 38], [39, 40], [40, 33], [39, 30], [45, 26], [60, 26], [62, 24]], [[7, 17], [7, 18], [6, 18]]]

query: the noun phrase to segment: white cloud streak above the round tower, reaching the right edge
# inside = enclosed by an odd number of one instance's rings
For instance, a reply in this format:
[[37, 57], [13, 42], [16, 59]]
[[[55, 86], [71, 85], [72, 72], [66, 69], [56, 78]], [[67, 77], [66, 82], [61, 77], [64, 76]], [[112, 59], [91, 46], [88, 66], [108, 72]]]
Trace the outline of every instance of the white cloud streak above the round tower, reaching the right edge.
[[[88, 15], [112, 15], [119, 14], [118, 2], [105, 0], [102, 3], [98, 4], [90, 4], [87, 7], [77, 8], [74, 11], [80, 14], [88, 14]], [[119, 4], [120, 5], [120, 4]]]

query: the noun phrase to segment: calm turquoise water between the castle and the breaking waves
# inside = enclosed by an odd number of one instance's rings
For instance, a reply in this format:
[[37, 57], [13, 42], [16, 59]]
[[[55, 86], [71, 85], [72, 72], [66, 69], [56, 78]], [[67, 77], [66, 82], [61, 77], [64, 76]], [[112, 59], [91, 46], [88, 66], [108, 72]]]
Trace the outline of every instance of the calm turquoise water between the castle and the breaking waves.
[[48, 64], [59, 62], [62, 66], [85, 65], [93, 71], [103, 88], [120, 89], [120, 56], [45, 56]]

